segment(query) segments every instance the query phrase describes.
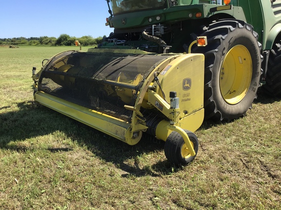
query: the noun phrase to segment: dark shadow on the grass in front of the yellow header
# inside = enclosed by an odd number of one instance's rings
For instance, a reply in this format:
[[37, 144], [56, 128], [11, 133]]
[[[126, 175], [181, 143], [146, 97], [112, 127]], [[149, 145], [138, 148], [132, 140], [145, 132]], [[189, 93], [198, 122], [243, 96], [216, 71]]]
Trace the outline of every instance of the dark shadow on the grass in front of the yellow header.
[[[17, 111], [0, 114], [0, 147], [2, 149], [26, 152], [32, 148], [17, 142], [36, 139], [60, 131], [72, 141], [86, 146], [89, 151], [102, 160], [112, 162], [126, 172], [124, 177], [127, 175], [160, 176], [170, 173], [169, 168], [173, 167], [167, 160], [158, 162], [156, 160], [157, 163], [152, 166], [139, 166], [143, 154], [158, 153], [164, 149], [163, 141], [156, 140], [149, 135], [144, 134], [143, 139], [137, 145], [130, 146], [33, 101], [21, 102], [17, 104], [17, 107], [11, 106]], [[72, 151], [67, 147], [48, 148], [48, 150], [52, 153]], [[134, 163], [126, 164], [126, 161]]]

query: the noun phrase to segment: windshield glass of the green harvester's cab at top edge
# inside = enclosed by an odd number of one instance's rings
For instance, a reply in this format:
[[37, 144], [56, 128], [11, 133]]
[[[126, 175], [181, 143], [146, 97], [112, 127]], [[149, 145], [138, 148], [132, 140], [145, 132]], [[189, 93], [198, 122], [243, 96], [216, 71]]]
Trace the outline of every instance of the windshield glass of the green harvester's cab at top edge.
[[113, 15], [147, 9], [163, 9], [166, 0], [110, 0]]

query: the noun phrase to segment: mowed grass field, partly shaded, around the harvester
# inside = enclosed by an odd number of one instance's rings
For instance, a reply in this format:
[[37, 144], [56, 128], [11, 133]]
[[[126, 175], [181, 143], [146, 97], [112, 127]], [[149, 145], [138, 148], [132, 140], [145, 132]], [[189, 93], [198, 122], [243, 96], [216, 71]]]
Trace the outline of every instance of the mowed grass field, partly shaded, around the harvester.
[[281, 209], [280, 99], [259, 92], [244, 118], [203, 123], [176, 168], [164, 142], [129, 146], [33, 102], [32, 67], [71, 49], [0, 47], [1, 210]]

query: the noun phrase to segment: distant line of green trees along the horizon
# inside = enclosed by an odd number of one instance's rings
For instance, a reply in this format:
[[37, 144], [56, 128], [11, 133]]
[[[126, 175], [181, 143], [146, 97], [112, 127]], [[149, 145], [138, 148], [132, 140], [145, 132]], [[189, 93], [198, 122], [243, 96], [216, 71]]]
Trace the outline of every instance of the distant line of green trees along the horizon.
[[18, 38], [0, 38], [0, 45], [20, 45], [20, 46], [72, 46], [75, 45], [75, 41], [79, 40], [82, 46], [92, 46], [98, 45], [102, 42], [102, 39], [106, 37], [99, 36], [97, 38], [93, 38], [90, 35], [82, 36], [77, 38], [75, 36], [70, 36], [67, 34], [62, 34], [58, 38], [56, 37], [48, 37], [48, 36], [40, 36], [40, 37], [18, 37]]

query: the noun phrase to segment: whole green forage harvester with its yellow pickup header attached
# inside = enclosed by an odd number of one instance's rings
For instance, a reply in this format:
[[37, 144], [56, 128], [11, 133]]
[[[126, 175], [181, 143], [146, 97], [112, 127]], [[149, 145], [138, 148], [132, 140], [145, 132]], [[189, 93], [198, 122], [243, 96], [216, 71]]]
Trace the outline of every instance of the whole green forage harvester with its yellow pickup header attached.
[[[164, 140], [165, 155], [176, 165], [196, 156], [192, 132], [203, 119], [244, 116], [261, 74], [264, 79], [273, 69], [268, 78], [281, 75], [273, 65], [280, 53], [270, 51], [281, 37], [275, 1], [106, 2], [106, 25], [114, 32], [96, 49], [62, 52], [33, 70], [34, 99], [130, 145], [143, 132]], [[272, 57], [263, 71], [262, 55], [266, 62]]]

